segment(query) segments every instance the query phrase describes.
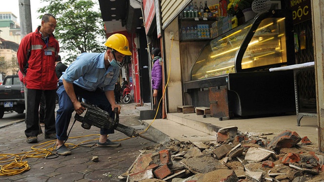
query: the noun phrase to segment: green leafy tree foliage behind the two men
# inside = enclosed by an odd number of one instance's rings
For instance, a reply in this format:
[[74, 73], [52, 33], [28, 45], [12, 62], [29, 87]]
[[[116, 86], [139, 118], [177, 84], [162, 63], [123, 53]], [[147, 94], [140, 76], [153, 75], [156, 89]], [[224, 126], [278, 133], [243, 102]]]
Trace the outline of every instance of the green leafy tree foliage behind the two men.
[[38, 9], [38, 13], [49, 13], [57, 19], [54, 35], [59, 42], [60, 52], [68, 53], [65, 62], [73, 62], [81, 53], [104, 51], [104, 26], [99, 8], [94, 9], [93, 0], [41, 0], [41, 2], [47, 2], [48, 5]]

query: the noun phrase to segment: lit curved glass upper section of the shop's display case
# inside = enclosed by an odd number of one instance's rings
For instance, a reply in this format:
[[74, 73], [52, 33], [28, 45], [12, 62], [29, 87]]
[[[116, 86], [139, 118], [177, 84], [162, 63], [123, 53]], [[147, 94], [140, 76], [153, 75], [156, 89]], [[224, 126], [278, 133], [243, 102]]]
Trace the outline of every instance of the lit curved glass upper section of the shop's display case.
[[193, 64], [191, 80], [294, 64], [294, 60], [287, 60], [289, 23], [284, 12], [278, 11], [263, 14], [212, 39]]

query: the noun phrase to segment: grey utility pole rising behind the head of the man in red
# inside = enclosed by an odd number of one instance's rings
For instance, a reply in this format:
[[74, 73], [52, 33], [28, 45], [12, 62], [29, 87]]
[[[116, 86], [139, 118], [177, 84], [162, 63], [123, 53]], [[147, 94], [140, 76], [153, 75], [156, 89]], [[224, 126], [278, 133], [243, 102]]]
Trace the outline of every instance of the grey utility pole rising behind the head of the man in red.
[[32, 14], [30, 10], [30, 0], [19, 0], [19, 18], [20, 18], [20, 37], [23, 38], [32, 30]]

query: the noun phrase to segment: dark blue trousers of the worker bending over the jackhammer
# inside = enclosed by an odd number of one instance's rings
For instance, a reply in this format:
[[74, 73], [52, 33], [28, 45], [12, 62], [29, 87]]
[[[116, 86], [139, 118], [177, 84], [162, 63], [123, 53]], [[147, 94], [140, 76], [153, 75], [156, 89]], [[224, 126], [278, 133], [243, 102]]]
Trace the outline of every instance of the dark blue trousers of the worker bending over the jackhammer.
[[[58, 85], [57, 95], [59, 109], [57, 110], [56, 116], [57, 139], [65, 141], [68, 139], [67, 130], [72, 117], [72, 112], [74, 111], [74, 106], [70, 97], [66, 93], [61, 80]], [[112, 111], [112, 107], [104, 91], [101, 89], [87, 91], [76, 86], [75, 84], [73, 84], [73, 86], [76, 93], [76, 98], [81, 97], [85, 99], [87, 103], [96, 105], [98, 108], [109, 112], [110, 117], [114, 118], [115, 114]], [[114, 129], [100, 129], [100, 134], [102, 135], [110, 133], [114, 133]]]

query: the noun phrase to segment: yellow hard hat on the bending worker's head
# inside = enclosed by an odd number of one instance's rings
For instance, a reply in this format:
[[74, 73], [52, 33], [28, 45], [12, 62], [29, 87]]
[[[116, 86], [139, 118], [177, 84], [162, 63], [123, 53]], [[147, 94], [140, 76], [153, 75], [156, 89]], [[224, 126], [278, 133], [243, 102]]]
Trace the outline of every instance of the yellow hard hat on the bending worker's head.
[[126, 36], [122, 34], [113, 34], [108, 37], [105, 46], [110, 47], [123, 55], [132, 55]]

